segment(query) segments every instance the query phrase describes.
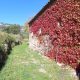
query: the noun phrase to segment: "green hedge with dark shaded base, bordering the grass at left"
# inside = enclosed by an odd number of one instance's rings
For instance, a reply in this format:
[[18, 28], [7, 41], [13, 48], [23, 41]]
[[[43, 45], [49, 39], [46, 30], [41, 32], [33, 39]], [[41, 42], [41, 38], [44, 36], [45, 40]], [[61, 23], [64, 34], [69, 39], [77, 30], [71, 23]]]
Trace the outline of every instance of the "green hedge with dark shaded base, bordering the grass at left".
[[5, 63], [7, 56], [11, 53], [12, 47], [16, 45], [16, 38], [16, 35], [0, 32], [0, 68], [2, 68], [2, 64]]

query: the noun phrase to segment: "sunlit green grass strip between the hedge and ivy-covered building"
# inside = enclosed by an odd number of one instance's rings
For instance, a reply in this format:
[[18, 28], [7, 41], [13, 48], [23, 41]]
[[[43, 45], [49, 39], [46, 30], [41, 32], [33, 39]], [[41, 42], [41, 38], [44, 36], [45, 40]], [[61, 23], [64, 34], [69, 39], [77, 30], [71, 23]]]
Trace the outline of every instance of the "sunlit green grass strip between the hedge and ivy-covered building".
[[54, 61], [29, 49], [26, 43], [13, 48], [0, 72], [0, 80], [74, 80]]

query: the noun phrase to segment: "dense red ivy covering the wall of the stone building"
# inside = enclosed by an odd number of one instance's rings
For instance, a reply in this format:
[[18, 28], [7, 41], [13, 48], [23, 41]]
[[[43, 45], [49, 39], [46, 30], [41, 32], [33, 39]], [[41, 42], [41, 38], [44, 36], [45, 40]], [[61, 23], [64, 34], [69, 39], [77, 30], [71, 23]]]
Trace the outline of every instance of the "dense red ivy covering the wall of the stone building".
[[55, 1], [30, 26], [36, 36], [39, 29], [53, 44], [45, 55], [76, 68], [80, 61], [80, 1]]

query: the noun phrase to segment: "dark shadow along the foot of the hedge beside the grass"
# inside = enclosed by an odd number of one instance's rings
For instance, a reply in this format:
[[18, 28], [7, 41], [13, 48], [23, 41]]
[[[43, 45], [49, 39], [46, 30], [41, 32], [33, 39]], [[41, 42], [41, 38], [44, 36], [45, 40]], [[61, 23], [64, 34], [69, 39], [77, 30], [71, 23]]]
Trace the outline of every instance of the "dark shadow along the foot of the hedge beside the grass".
[[[0, 49], [0, 71], [4, 68], [6, 61], [8, 59], [8, 55], [10, 55], [12, 51], [12, 42], [7, 43], [8, 48], [7, 51]], [[15, 42], [15, 46], [20, 45], [19, 42]]]

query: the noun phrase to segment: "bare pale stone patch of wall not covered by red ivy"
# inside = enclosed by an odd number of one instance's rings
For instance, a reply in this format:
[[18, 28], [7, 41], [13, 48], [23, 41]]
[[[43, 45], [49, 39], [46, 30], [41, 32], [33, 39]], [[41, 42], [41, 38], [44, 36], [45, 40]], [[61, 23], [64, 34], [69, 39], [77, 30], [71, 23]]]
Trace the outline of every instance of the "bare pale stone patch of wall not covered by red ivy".
[[33, 50], [37, 50], [40, 53], [47, 53], [52, 49], [51, 40], [49, 35], [36, 36], [33, 33], [29, 34], [29, 47]]

